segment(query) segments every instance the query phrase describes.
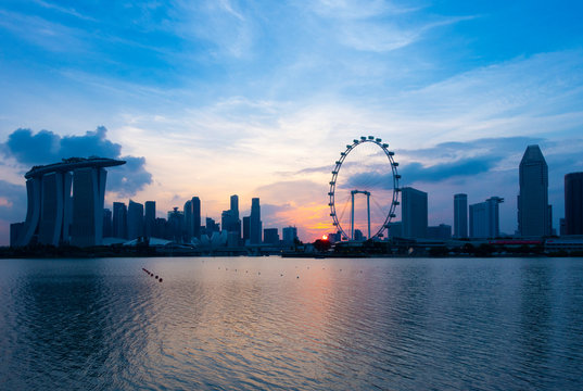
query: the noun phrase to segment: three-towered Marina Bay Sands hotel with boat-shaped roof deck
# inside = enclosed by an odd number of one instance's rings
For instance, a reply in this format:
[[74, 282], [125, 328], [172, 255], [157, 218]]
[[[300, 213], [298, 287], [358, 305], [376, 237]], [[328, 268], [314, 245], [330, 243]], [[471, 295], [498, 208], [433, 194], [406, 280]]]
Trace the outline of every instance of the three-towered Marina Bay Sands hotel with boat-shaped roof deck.
[[125, 163], [103, 157], [71, 157], [34, 166], [24, 176], [28, 197], [26, 220], [11, 225], [11, 245], [101, 244], [107, 176], [104, 167]]

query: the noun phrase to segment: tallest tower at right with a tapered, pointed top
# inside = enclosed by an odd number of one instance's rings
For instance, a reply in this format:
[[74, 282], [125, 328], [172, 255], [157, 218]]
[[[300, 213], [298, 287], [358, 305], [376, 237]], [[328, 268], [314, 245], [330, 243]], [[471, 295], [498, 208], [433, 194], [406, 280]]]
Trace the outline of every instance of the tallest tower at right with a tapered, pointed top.
[[519, 166], [518, 232], [523, 237], [549, 236], [548, 167], [538, 146], [529, 146]]

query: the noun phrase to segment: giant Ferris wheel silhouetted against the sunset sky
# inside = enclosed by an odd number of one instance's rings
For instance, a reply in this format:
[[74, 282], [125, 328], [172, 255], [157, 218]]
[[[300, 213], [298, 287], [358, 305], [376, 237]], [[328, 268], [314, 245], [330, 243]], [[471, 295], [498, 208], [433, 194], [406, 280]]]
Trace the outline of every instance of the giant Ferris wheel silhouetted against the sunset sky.
[[375, 136], [355, 139], [340, 153], [332, 171], [328, 205], [342, 240], [364, 239], [365, 232], [368, 239], [383, 237], [400, 204], [397, 167], [389, 144]]

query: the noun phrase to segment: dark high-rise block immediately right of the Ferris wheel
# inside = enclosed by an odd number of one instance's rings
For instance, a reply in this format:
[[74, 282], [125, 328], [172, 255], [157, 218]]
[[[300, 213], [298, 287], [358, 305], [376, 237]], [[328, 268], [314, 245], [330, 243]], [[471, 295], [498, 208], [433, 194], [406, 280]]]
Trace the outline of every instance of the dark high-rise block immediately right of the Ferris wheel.
[[403, 237], [424, 238], [427, 236], [427, 192], [411, 187], [402, 190], [401, 219]]

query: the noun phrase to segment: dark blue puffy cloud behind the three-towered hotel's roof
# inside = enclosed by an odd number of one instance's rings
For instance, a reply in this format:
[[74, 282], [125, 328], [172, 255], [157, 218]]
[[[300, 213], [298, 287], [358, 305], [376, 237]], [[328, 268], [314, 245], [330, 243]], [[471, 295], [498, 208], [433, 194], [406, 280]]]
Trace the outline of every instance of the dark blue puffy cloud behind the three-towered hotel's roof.
[[152, 175], [145, 169], [145, 159], [122, 156], [122, 146], [107, 140], [107, 129], [103, 126], [84, 136], [60, 136], [50, 130], [34, 134], [30, 129], [16, 129], [0, 151], [24, 166], [50, 164], [66, 157], [100, 156], [125, 160], [123, 166], [107, 171], [107, 190], [130, 197], [152, 182]]

